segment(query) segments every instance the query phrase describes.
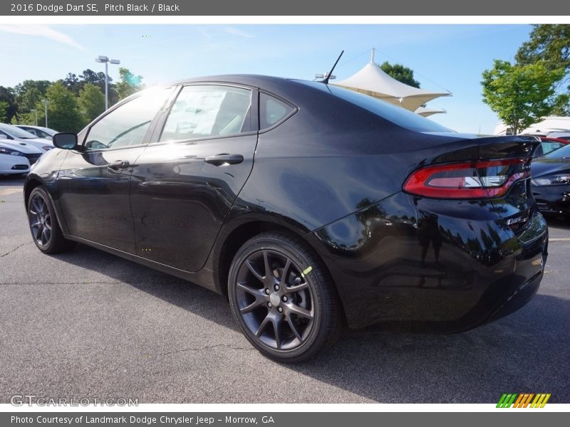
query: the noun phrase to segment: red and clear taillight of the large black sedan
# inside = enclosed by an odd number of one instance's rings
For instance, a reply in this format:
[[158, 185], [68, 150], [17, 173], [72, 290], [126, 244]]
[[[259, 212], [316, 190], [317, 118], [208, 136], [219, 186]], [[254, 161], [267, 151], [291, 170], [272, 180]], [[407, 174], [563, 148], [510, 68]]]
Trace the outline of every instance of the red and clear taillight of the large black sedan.
[[404, 191], [435, 199], [489, 199], [503, 196], [530, 176], [530, 159], [483, 160], [427, 166], [406, 179]]

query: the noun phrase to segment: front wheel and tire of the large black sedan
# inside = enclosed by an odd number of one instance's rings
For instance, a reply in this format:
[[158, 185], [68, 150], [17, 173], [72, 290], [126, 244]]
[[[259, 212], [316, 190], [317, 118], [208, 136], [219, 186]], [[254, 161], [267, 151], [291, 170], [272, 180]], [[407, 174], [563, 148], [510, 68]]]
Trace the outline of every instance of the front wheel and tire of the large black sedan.
[[26, 202], [28, 223], [33, 243], [43, 253], [61, 253], [69, 251], [75, 242], [63, 237], [56, 212], [46, 190], [36, 187]]

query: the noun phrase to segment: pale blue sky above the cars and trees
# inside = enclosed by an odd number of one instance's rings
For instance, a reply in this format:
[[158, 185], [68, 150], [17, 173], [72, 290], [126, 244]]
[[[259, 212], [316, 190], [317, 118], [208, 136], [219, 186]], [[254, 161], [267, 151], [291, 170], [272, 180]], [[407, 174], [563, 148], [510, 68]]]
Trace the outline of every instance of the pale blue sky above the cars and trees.
[[[58, 80], [104, 66], [99, 55], [154, 85], [201, 75], [252, 73], [312, 80], [345, 51], [335, 71], [348, 78], [368, 62], [402, 63], [425, 90], [449, 90], [427, 107], [458, 132], [491, 134], [499, 122], [482, 101], [482, 72], [513, 60], [529, 25], [9, 25], [0, 24], [0, 85]], [[118, 67], [109, 66], [118, 79]]]

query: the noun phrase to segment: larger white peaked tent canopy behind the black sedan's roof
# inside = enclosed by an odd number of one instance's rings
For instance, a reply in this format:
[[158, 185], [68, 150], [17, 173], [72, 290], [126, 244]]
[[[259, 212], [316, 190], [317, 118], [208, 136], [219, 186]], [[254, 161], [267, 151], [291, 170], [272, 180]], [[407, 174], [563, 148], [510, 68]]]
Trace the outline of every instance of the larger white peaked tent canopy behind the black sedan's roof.
[[364, 65], [358, 73], [351, 75], [346, 80], [332, 82], [331, 84], [380, 98], [410, 111], [417, 110], [427, 101], [437, 97], [451, 96], [450, 92], [429, 92], [405, 85], [390, 77], [374, 62], [374, 49], [370, 62]]

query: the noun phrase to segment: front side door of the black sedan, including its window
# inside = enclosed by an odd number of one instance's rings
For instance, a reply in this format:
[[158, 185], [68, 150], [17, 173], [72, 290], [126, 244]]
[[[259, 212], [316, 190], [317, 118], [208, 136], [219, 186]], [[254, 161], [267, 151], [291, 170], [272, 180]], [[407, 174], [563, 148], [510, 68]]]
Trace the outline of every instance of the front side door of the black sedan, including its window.
[[118, 105], [90, 125], [80, 149], [68, 152], [58, 175], [58, 189], [73, 236], [135, 253], [130, 174], [172, 91], [145, 91]]

